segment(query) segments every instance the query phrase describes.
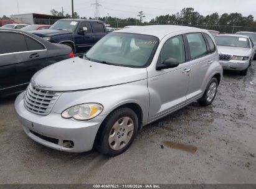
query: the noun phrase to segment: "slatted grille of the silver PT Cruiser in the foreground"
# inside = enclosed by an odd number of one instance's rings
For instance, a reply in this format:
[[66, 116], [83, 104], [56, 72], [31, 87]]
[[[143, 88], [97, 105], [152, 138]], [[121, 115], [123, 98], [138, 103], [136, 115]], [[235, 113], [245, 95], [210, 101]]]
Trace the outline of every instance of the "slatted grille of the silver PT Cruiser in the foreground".
[[32, 113], [46, 116], [54, 107], [59, 96], [60, 93], [40, 90], [29, 84], [24, 97], [25, 108]]

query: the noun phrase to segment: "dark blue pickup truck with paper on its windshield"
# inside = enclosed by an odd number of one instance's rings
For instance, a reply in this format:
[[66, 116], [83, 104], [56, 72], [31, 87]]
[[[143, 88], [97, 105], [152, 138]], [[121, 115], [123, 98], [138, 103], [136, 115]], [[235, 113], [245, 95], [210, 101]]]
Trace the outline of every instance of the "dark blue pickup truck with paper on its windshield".
[[85, 19], [61, 19], [50, 29], [31, 31], [55, 44], [65, 44], [76, 54], [87, 52], [98, 40], [107, 34], [102, 21]]

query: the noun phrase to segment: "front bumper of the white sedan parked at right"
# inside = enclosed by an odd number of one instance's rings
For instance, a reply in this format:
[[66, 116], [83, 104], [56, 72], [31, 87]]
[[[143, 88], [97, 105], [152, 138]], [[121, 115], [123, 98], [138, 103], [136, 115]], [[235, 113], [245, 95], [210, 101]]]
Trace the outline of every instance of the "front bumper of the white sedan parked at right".
[[220, 60], [220, 65], [222, 65], [223, 70], [237, 70], [242, 71], [249, 67], [250, 60], [239, 61], [239, 60]]

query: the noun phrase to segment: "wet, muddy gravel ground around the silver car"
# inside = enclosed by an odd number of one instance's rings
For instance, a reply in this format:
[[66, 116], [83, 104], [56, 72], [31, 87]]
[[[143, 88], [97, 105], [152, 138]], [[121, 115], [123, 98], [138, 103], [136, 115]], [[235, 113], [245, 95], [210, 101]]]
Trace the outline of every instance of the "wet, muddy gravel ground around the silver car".
[[211, 106], [145, 126], [124, 154], [69, 154], [22, 131], [15, 97], [0, 99], [0, 183], [256, 183], [256, 61], [224, 72]]

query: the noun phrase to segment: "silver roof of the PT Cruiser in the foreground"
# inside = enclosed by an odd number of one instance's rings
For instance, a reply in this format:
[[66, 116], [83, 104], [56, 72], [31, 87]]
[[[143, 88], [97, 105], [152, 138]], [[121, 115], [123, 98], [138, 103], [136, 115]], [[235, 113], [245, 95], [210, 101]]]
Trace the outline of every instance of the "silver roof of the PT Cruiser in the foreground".
[[163, 39], [164, 36], [172, 34], [174, 32], [202, 32], [206, 31], [204, 29], [199, 29], [196, 27], [188, 27], [181, 25], [145, 25], [140, 27], [130, 27], [121, 30], [116, 30], [113, 33], [132, 33], [132, 34], [144, 34], [153, 35], [159, 39]]

